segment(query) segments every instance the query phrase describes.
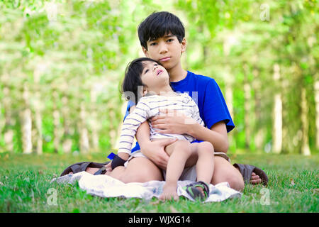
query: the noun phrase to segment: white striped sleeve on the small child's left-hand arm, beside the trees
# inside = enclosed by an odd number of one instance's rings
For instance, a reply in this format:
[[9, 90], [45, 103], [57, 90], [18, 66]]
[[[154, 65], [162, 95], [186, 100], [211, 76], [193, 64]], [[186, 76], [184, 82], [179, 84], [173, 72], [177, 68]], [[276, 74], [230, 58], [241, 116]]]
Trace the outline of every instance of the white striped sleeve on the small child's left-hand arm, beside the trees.
[[150, 113], [150, 106], [147, 100], [140, 99], [134, 111], [126, 116], [118, 148], [118, 153], [128, 153], [130, 155], [134, 137], [141, 123], [147, 120]]

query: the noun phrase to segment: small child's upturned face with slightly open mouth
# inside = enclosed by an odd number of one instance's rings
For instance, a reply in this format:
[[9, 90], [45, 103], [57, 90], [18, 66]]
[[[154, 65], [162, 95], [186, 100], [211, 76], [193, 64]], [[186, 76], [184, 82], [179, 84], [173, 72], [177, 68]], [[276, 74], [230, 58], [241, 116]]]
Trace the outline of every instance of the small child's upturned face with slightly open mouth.
[[149, 91], [158, 92], [164, 85], [169, 84], [169, 74], [164, 67], [158, 65], [157, 62], [151, 61], [145, 61], [142, 64], [144, 65], [144, 69], [140, 78]]

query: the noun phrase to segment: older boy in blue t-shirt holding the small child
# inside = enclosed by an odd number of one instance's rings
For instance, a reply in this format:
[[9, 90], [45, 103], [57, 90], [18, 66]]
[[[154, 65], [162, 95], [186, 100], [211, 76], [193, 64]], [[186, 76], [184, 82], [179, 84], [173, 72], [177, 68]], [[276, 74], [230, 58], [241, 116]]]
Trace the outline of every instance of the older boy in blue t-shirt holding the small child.
[[[177, 92], [189, 92], [190, 96], [195, 94], [193, 99], [197, 101], [201, 118], [206, 124], [206, 127], [199, 124], [185, 124], [187, 122], [186, 118], [181, 118], [179, 114], [177, 114], [178, 116], [168, 115], [167, 111], [164, 110], [162, 115], [152, 118], [153, 127], [161, 129], [162, 133], [186, 133], [198, 140], [211, 142], [216, 156], [212, 184], [227, 181], [230, 183], [230, 187], [238, 191], [242, 191], [245, 187], [242, 177], [244, 177], [246, 182], [251, 179], [253, 184], [260, 183], [262, 180], [264, 184], [267, 184], [267, 175], [257, 167], [236, 164], [236, 170], [228, 162], [229, 159], [225, 155], [228, 150], [227, 133], [235, 125], [223, 99], [223, 94], [220, 92], [215, 80], [186, 71], [181, 67], [181, 55], [186, 50], [186, 39], [184, 37], [184, 26], [179, 21], [179, 18], [169, 12], [152, 13], [145, 21], [140, 23], [138, 36], [145, 56], [161, 62], [167, 69], [174, 90]], [[130, 102], [128, 110], [131, 111], [134, 108], [132, 106], [133, 104]], [[164, 169], [169, 159], [168, 155], [164, 153], [164, 147], [174, 141], [150, 142], [149, 135], [150, 129], [147, 123], [143, 123], [136, 135], [140, 143], [141, 152], [152, 160], [155, 165]], [[137, 143], [132, 152], [139, 150], [140, 147]], [[131, 179], [138, 179], [140, 182], [144, 182], [144, 180], [158, 177], [157, 171], [154, 170], [156, 168], [152, 166], [152, 163], [145, 167], [145, 170], [149, 170], [148, 176], [144, 175], [142, 177], [138, 177], [141, 170], [138, 160], [136, 160], [136, 163], [132, 162], [131, 164]], [[146, 163], [143, 162], [143, 164]], [[186, 170], [185, 172], [187, 173], [182, 179], [191, 179], [189, 173], [194, 173], [194, 169], [193, 167], [193, 170]], [[150, 170], [154, 170], [154, 172]], [[263, 179], [260, 179], [254, 172], [262, 175]], [[150, 177], [151, 175], [152, 177]]]

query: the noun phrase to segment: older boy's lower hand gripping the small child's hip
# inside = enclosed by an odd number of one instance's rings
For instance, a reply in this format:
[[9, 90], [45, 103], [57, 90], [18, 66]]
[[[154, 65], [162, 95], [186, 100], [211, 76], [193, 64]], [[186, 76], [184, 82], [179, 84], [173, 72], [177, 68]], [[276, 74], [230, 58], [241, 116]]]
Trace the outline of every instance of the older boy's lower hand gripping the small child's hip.
[[164, 149], [167, 145], [174, 143], [176, 140], [177, 139], [153, 140], [149, 143], [146, 143], [140, 149], [142, 154], [154, 162], [157, 167], [161, 168], [162, 170], [166, 170], [169, 155], [167, 155]]

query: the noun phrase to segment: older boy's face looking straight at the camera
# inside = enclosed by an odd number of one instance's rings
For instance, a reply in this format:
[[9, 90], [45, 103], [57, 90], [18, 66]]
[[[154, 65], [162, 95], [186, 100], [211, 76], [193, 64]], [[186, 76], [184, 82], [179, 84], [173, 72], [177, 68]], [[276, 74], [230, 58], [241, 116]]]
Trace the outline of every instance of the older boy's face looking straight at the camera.
[[176, 35], [168, 33], [157, 40], [147, 41], [147, 50], [142, 47], [146, 57], [150, 57], [162, 63], [162, 65], [170, 70], [179, 64], [181, 53], [186, 50], [186, 39], [183, 38], [181, 43]]

